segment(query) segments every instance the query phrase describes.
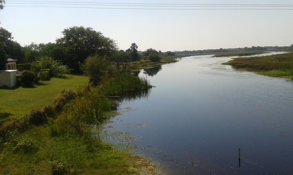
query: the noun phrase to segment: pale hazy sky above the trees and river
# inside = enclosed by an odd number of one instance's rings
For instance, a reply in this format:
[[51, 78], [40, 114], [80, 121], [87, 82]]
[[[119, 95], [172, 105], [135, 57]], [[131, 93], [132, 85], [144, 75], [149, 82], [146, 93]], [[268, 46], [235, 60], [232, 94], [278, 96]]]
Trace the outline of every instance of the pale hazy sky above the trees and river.
[[[71, 1], [82, 2], [82, 0]], [[293, 4], [289, 0], [86, 0], [85, 2]], [[56, 38], [62, 36], [61, 31], [64, 28], [84, 26], [92, 27], [96, 31], [101, 31], [105, 36], [113, 38], [117, 41], [119, 48], [123, 50], [135, 42], [139, 46], [139, 50], [155, 48], [162, 51], [174, 51], [245, 46], [289, 46], [293, 44], [292, 16], [293, 10], [123, 10], [5, 7], [0, 11], [0, 26], [12, 32], [14, 40], [21, 45], [31, 42], [54, 42]]]

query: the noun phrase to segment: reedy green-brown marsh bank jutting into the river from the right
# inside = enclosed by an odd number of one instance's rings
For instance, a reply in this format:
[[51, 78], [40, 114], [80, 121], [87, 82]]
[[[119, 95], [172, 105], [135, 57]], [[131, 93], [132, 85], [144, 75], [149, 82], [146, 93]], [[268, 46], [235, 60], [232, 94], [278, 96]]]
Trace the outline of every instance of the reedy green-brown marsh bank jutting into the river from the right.
[[239, 70], [254, 71], [260, 75], [293, 78], [292, 62], [293, 53], [287, 53], [265, 57], [235, 58], [224, 64]]

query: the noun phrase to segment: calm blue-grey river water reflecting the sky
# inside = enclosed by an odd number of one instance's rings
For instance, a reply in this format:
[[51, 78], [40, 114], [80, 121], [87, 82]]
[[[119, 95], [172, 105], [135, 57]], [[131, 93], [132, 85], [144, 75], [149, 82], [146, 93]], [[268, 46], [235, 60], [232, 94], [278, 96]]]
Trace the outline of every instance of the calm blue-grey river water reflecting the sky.
[[134, 145], [162, 174], [293, 174], [293, 82], [212, 56], [141, 71], [156, 87], [122, 103], [106, 140]]

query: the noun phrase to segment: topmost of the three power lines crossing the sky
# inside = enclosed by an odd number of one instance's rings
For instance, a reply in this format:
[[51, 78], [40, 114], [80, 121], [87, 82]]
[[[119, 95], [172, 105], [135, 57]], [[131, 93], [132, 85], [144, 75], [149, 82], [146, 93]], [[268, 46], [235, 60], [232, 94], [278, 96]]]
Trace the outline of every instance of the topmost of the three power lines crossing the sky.
[[76, 1], [12, 1], [6, 2], [57, 2], [57, 3], [99, 3], [99, 4], [141, 4], [141, 5], [258, 5], [258, 6], [293, 6], [293, 4], [183, 4], [183, 3], [113, 3], [113, 2], [76, 2]]

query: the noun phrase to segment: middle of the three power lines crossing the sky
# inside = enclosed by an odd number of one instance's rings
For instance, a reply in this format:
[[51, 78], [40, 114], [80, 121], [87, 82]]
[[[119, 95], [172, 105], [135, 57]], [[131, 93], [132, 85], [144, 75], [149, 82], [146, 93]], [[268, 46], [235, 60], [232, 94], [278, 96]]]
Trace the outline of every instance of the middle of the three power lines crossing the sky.
[[293, 7], [292, 6], [274, 6], [274, 5], [266, 5], [266, 6], [259, 6], [259, 5], [191, 5], [191, 6], [154, 6], [154, 5], [113, 5], [113, 4], [76, 4], [76, 3], [7, 3], [7, 4], [52, 4], [52, 5], [86, 5], [86, 6], [136, 6], [136, 7]]

